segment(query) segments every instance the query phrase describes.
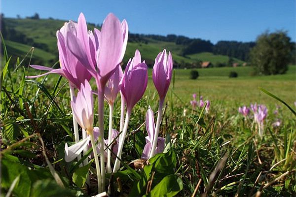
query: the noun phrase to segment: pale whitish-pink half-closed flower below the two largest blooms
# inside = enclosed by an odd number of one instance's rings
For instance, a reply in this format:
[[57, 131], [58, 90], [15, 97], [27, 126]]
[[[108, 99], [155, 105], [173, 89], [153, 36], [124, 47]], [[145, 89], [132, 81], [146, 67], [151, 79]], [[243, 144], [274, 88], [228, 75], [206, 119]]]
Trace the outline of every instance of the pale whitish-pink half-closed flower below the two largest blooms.
[[87, 132], [93, 131], [94, 122], [94, 102], [91, 87], [87, 80], [84, 85], [81, 84], [80, 91], [74, 101], [71, 101], [71, 107], [77, 123]]

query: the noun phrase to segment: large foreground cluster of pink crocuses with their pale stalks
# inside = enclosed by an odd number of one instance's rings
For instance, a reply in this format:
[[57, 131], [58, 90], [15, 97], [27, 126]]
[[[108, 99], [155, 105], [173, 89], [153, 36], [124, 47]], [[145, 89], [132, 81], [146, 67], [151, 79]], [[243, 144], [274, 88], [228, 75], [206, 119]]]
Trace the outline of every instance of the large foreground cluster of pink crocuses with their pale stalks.
[[[140, 51], [128, 61], [123, 73], [120, 63], [125, 54], [128, 39], [128, 24], [125, 20], [120, 22], [113, 14], [104, 20], [101, 31], [87, 30], [84, 15], [79, 15], [77, 23], [70, 21], [57, 31], [60, 67], [58, 69], [46, 66], [31, 65], [39, 70], [48, 70], [47, 73], [57, 73], [68, 79], [71, 93], [71, 107], [73, 111], [75, 144], [65, 145], [65, 161], [71, 162], [75, 158], [80, 160], [81, 152], [87, 152], [92, 147], [98, 176], [99, 193], [105, 191], [105, 171], [116, 172], [120, 167], [120, 158], [129, 119], [135, 104], [143, 97], [148, 83], [148, 66], [141, 60]], [[159, 108], [156, 125], [153, 111], [148, 109], [146, 115], [146, 128], [148, 136], [143, 151], [143, 158], [149, 159], [156, 153], [163, 152], [164, 138], [158, 137], [161, 123], [162, 107], [167, 94], [173, 60], [171, 53], [164, 49], [155, 58], [152, 71], [154, 86], [159, 95]], [[94, 78], [97, 90], [92, 90], [89, 81]], [[75, 89], [77, 94], [75, 94]], [[121, 116], [119, 132], [113, 129], [113, 104], [120, 92]], [[98, 127], [94, 127], [94, 99], [98, 97]], [[104, 100], [109, 104], [109, 134], [104, 138]], [[124, 117], [124, 114], [125, 117]], [[82, 130], [82, 140], [79, 140], [77, 123]], [[96, 142], [98, 141], [98, 145]], [[100, 163], [98, 159], [100, 152]], [[111, 168], [111, 152], [117, 154], [113, 170]], [[115, 157], [114, 157], [115, 158]], [[88, 159], [83, 161], [83, 165]], [[107, 169], [105, 168], [107, 163]], [[80, 165], [81, 166], [81, 165]]]

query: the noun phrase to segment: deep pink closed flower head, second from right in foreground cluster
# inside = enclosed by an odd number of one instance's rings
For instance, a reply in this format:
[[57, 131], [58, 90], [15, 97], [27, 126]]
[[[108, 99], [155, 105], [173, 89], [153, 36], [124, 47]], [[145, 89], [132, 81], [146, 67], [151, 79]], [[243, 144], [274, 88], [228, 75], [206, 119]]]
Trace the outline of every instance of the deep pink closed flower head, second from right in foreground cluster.
[[145, 93], [148, 82], [147, 69], [145, 62], [141, 63], [140, 52], [136, 50], [135, 57], [129, 60], [121, 79], [121, 93], [127, 110], [131, 110]]

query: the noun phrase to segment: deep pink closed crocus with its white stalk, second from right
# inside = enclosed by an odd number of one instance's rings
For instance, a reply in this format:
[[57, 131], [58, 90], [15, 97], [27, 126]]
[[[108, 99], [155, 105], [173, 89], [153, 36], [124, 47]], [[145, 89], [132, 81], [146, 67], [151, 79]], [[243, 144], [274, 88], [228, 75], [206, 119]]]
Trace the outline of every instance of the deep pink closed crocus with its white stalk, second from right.
[[[145, 62], [141, 63], [141, 54], [138, 50], [135, 52], [135, 56], [132, 60], [129, 60], [124, 75], [121, 79], [121, 93], [126, 102], [126, 117], [123, 126], [123, 131], [119, 137], [118, 153], [117, 157], [121, 158], [121, 152], [123, 148], [123, 143], [129, 123], [129, 118], [131, 115], [132, 108], [134, 105], [142, 98], [147, 88], [148, 82], [148, 66]], [[119, 169], [120, 161], [116, 158], [113, 172]]]

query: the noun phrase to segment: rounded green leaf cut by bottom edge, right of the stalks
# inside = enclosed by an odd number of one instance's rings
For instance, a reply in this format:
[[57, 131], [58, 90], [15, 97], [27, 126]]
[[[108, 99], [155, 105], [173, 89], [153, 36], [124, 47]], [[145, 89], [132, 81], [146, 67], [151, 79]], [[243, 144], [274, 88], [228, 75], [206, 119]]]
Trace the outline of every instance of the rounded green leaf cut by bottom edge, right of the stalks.
[[174, 197], [181, 190], [183, 190], [182, 179], [177, 175], [171, 174], [164, 177], [151, 192], [146, 195], [147, 197]]

